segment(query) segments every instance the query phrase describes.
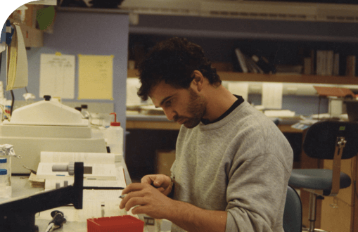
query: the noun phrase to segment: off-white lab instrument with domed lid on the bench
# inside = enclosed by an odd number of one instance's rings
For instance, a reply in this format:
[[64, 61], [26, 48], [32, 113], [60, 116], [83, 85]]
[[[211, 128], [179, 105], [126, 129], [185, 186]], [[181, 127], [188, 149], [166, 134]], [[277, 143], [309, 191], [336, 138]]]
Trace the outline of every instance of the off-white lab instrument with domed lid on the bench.
[[10, 122], [0, 124], [0, 141], [13, 145], [12, 173], [37, 169], [41, 151], [106, 153], [104, 138], [94, 138], [81, 112], [58, 101], [39, 101], [13, 111]]

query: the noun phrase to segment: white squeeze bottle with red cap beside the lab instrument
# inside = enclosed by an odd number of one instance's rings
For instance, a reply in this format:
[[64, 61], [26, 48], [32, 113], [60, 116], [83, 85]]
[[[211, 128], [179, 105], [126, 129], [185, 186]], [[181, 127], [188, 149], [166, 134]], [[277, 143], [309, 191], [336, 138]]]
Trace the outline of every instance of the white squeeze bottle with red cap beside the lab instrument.
[[110, 147], [110, 153], [123, 154], [123, 128], [120, 122], [117, 122], [117, 114], [111, 112], [110, 115], [115, 115], [115, 120], [110, 122], [110, 127], [106, 129], [107, 146]]

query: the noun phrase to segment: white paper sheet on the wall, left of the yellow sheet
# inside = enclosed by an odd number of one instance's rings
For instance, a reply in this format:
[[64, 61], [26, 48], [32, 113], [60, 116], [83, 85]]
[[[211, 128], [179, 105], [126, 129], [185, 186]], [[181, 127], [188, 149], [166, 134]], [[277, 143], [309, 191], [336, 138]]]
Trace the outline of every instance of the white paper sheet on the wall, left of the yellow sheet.
[[39, 97], [75, 98], [75, 56], [41, 54]]

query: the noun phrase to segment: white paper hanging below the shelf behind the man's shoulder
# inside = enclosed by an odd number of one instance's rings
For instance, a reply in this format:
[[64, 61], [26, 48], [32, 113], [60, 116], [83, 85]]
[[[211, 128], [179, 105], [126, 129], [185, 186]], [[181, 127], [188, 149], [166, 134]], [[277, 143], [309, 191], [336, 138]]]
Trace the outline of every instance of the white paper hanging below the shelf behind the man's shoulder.
[[266, 109], [282, 108], [282, 83], [262, 83], [262, 105]]

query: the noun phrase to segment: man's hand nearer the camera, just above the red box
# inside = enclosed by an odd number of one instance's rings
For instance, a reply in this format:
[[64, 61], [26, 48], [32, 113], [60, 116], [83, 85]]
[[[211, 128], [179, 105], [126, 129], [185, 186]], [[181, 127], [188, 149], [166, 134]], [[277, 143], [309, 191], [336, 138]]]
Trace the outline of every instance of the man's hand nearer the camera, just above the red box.
[[131, 183], [124, 188], [122, 194], [127, 194], [120, 202], [120, 209], [125, 207], [132, 214], [147, 214], [155, 219], [167, 217], [172, 212], [172, 199], [163, 195], [149, 183]]

